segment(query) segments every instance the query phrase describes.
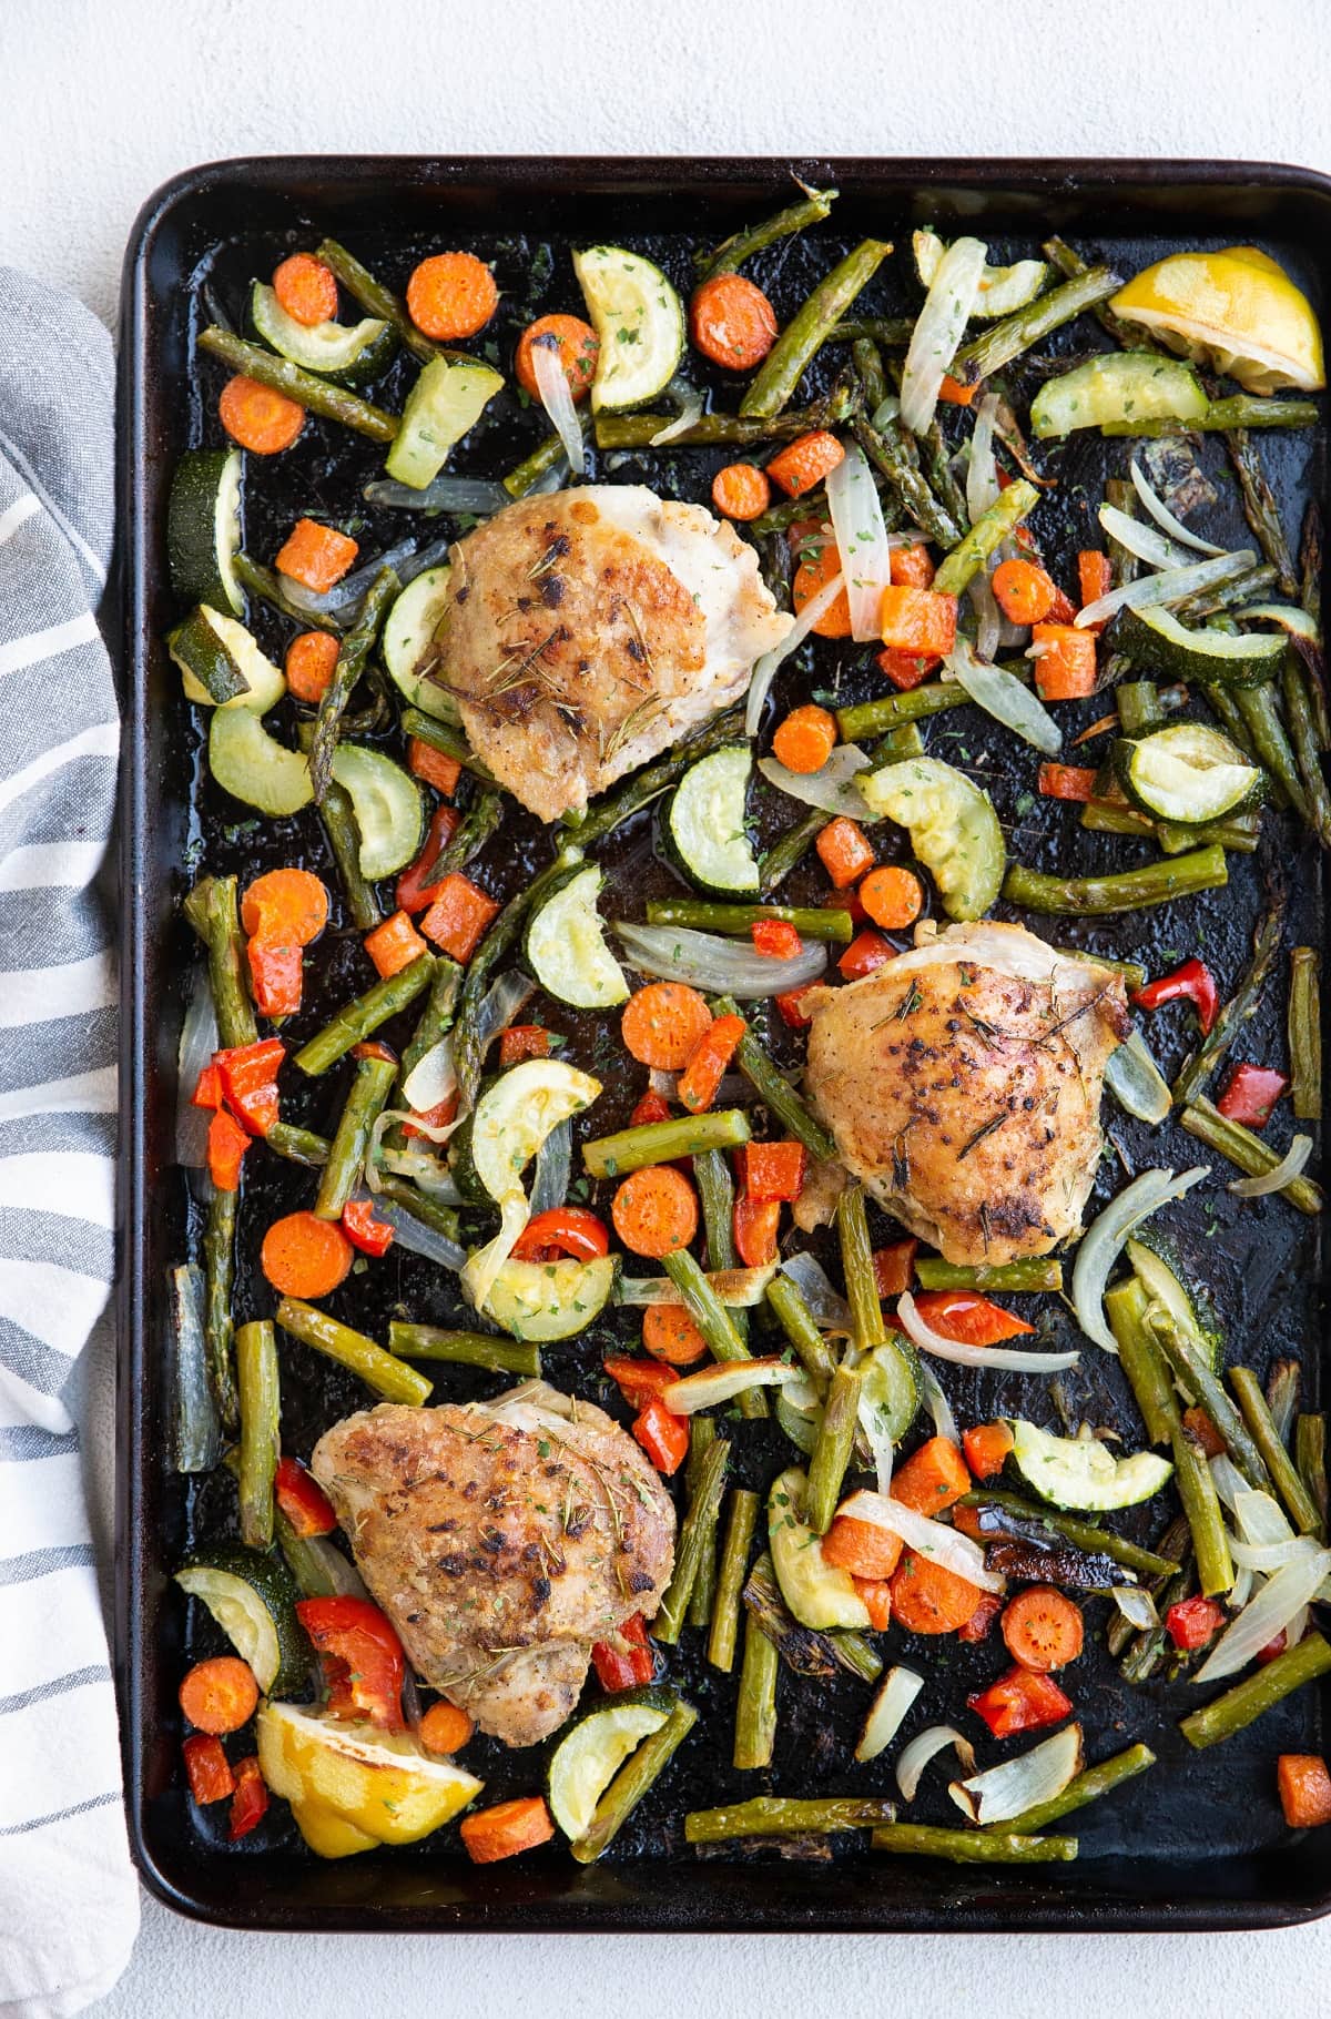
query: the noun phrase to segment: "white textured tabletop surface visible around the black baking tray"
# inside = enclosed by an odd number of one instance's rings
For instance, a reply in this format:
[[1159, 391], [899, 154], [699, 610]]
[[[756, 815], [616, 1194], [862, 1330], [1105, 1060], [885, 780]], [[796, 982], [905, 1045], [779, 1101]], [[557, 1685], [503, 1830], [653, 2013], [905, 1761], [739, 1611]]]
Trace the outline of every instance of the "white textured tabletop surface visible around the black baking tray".
[[[1317, 0], [0, 0], [0, 260], [115, 313], [168, 176], [234, 153], [1173, 153], [1331, 168]], [[366, 28], [370, 34], [366, 36]], [[2, 339], [2, 337], [0, 337]], [[145, 1902], [133, 2019], [1331, 2013], [1331, 1920], [1254, 1936], [414, 1936]]]

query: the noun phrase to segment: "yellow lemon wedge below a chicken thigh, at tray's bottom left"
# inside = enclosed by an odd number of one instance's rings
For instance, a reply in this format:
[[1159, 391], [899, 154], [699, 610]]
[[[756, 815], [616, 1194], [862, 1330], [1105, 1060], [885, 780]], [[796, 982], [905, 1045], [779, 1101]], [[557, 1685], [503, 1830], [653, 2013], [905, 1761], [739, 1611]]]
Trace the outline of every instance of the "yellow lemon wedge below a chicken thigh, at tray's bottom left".
[[319, 1857], [428, 1837], [485, 1785], [426, 1752], [410, 1732], [382, 1732], [301, 1704], [263, 1706], [259, 1765]]

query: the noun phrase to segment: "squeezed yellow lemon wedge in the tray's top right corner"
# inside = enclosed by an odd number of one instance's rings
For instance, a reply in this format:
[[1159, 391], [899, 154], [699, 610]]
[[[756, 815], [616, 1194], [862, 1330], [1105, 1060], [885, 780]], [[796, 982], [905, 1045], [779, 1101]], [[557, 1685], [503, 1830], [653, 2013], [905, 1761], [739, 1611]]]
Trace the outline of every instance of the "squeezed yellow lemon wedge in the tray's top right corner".
[[1244, 392], [1321, 392], [1327, 384], [1313, 305], [1256, 246], [1171, 252], [1119, 289], [1109, 307]]

